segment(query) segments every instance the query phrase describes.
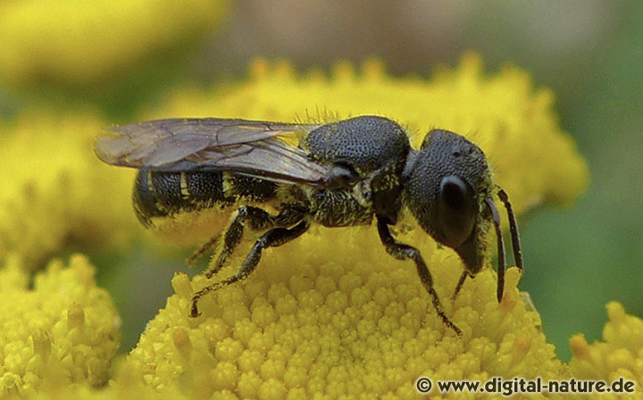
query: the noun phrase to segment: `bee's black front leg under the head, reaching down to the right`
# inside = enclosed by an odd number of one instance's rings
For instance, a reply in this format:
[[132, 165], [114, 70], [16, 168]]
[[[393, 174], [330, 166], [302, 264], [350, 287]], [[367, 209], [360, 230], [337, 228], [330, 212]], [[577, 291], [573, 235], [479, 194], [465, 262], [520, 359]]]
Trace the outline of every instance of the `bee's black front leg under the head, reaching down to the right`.
[[415, 262], [422, 285], [426, 291], [429, 292], [433, 300], [433, 307], [436, 312], [438, 312], [438, 316], [447, 327], [454, 329], [458, 336], [462, 336], [462, 330], [456, 327], [455, 324], [448, 319], [444, 311], [442, 311], [442, 304], [439, 301], [438, 293], [436, 293], [435, 288], [433, 288], [433, 279], [431, 279], [429, 268], [427, 268], [426, 263], [422, 259], [420, 251], [413, 246], [397, 242], [388, 229], [388, 223], [380, 218], [378, 218], [378, 232], [380, 233], [380, 240], [388, 254], [391, 254], [397, 258], [397, 260], [411, 259]]

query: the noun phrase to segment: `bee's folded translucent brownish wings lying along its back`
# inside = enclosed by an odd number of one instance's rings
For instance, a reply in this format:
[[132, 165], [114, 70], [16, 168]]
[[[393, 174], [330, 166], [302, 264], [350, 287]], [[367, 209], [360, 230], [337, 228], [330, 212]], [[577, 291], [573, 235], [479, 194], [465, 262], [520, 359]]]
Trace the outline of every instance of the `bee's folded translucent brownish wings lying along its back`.
[[119, 166], [156, 171], [236, 171], [283, 182], [323, 185], [330, 166], [288, 143], [319, 125], [219, 118], [170, 119], [109, 128], [96, 155]]

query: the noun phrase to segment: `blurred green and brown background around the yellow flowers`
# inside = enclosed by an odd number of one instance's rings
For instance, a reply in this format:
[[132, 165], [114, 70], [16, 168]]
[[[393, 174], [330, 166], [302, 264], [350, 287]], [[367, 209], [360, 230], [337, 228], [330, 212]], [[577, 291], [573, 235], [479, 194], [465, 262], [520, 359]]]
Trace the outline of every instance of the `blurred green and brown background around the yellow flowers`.
[[[36, 103], [77, 103], [100, 107], [108, 121], [131, 121], [180, 83], [244, 79], [256, 56], [288, 59], [299, 71], [376, 56], [394, 75], [428, 76], [474, 50], [488, 71], [513, 63], [537, 87], [550, 87], [561, 126], [589, 162], [589, 190], [577, 204], [536, 210], [521, 221], [527, 269], [521, 287], [548, 340], [569, 360], [573, 333], [600, 338], [608, 301], [643, 315], [643, 2], [238, 1], [218, 27], [183, 40], [180, 50], [157, 50], [151, 68], [131, 65], [109, 90], [47, 77], [26, 89], [0, 86], [0, 116], [11, 119]], [[150, 253], [123, 254], [121, 268], [99, 272], [127, 329], [123, 350], [163, 306], [185, 256]], [[99, 267], [114, 263], [98, 254], [92, 260]]]

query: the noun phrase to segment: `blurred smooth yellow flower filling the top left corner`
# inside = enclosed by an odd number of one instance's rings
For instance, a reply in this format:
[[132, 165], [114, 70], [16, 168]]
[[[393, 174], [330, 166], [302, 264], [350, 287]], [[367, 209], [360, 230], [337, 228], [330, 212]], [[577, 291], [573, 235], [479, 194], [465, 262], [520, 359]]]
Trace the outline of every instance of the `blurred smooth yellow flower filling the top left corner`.
[[[105, 87], [205, 37], [227, 0], [23, 0], [0, 3], [0, 79]], [[87, 88], [87, 87], [86, 87]]]

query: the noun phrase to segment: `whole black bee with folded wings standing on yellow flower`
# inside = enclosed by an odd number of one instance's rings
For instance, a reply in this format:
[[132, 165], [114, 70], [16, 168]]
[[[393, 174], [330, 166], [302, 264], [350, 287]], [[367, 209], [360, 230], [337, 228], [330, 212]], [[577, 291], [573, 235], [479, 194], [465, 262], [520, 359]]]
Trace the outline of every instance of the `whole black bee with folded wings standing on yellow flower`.
[[[201, 296], [254, 271], [264, 248], [294, 240], [311, 223], [347, 227], [371, 224], [375, 217], [388, 254], [413, 260], [439, 317], [460, 335], [442, 310], [422, 255], [398, 242], [389, 227], [407, 207], [422, 229], [455, 250], [465, 267], [455, 296], [466, 277], [482, 269], [493, 225], [500, 301], [505, 247], [494, 192], [507, 209], [514, 259], [522, 269], [518, 228], [505, 191], [494, 185], [480, 148], [448, 130], [431, 130], [420, 150], [411, 147], [397, 122], [377, 116], [327, 124], [170, 119], [111, 130], [117, 134], [98, 137], [96, 154], [139, 170], [134, 207], [144, 225], [179, 212], [236, 207], [227, 229], [196, 252], [205, 254], [222, 240], [207, 278], [221, 270], [246, 227], [263, 232], [235, 275], [196, 292], [193, 317]], [[277, 212], [267, 212], [267, 206]]]

